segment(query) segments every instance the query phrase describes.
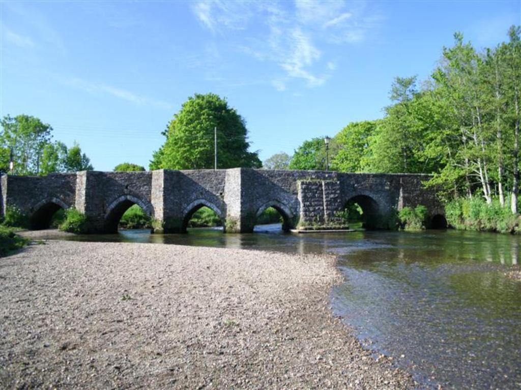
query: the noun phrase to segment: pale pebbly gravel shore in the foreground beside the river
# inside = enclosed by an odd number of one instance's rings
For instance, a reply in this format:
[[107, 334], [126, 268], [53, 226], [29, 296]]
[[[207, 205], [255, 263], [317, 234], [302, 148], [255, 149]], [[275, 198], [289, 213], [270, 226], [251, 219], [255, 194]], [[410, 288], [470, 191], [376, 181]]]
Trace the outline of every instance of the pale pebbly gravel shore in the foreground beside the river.
[[3, 388], [386, 388], [330, 256], [47, 241], [0, 258]]

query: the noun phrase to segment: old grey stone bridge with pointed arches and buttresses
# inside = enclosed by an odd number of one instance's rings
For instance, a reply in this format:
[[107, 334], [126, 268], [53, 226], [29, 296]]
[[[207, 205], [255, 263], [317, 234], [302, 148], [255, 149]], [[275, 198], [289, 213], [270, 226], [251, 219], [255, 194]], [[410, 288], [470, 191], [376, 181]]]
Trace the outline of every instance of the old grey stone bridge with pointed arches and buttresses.
[[444, 215], [428, 175], [353, 174], [233, 168], [152, 172], [96, 172], [7, 176], [1, 181], [2, 214], [9, 206], [29, 217], [33, 229], [48, 227], [52, 215], [76, 207], [93, 232], [115, 232], [133, 204], [152, 218], [157, 232], [183, 232], [192, 214], [210, 207], [228, 232], [251, 232], [268, 207], [284, 218], [285, 228], [341, 225], [349, 201], [364, 210], [369, 227], [385, 228], [386, 218], [404, 206], [427, 206], [431, 218]]

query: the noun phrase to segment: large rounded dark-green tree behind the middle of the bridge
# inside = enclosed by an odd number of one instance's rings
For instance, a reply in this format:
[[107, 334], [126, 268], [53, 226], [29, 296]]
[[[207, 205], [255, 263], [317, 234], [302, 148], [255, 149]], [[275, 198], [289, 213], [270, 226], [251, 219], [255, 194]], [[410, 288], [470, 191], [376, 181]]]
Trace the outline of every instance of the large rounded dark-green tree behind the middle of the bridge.
[[165, 144], [156, 152], [150, 169], [214, 167], [214, 128], [217, 128], [217, 167], [261, 167], [256, 152], [248, 151], [246, 122], [226, 99], [195, 94], [174, 115], [163, 134]]

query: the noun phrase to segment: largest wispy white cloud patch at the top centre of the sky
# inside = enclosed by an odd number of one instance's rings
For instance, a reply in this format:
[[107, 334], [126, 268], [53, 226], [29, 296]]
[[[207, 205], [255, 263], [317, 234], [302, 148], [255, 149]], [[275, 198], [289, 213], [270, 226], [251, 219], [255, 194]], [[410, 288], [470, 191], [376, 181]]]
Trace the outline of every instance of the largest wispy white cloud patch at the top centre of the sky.
[[287, 5], [203, 0], [192, 9], [213, 34], [244, 30], [237, 50], [276, 63], [284, 72], [272, 77], [271, 85], [277, 90], [286, 90], [291, 79], [302, 80], [308, 87], [324, 84], [337, 69], [327, 58], [329, 46], [362, 42], [379, 21], [378, 14], [363, 2], [295, 0], [294, 7]]

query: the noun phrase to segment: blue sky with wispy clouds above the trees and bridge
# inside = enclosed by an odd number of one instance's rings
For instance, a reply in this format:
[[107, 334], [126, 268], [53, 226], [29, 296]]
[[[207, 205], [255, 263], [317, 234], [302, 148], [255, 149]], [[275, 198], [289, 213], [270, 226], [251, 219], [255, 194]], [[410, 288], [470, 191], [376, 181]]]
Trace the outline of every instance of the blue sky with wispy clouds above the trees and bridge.
[[521, 2], [0, 2], [0, 115], [76, 140], [96, 170], [148, 167], [183, 101], [213, 92], [261, 160], [376, 119], [455, 31], [506, 40]]

